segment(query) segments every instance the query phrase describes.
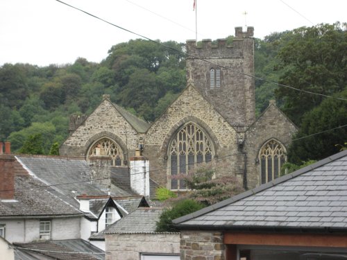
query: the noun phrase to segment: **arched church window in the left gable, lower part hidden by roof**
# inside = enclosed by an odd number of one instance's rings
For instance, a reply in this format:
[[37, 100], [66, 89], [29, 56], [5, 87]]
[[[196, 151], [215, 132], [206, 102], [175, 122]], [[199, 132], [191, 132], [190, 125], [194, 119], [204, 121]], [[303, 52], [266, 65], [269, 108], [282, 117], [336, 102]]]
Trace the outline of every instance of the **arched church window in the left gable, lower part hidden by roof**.
[[124, 165], [124, 153], [121, 147], [111, 139], [103, 138], [90, 148], [88, 158], [92, 157], [109, 157], [111, 159], [112, 166]]

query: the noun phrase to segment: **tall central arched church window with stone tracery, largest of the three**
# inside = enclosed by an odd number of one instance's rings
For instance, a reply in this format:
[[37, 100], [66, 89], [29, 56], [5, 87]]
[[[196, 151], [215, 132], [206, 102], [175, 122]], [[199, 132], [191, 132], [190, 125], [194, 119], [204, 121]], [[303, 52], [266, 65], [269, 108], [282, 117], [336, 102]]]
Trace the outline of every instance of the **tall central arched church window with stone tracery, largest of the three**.
[[[214, 155], [212, 141], [194, 123], [187, 123], [181, 128], [169, 146], [169, 174], [185, 174], [201, 162], [210, 162]], [[171, 180], [170, 188], [186, 189], [183, 180]]]

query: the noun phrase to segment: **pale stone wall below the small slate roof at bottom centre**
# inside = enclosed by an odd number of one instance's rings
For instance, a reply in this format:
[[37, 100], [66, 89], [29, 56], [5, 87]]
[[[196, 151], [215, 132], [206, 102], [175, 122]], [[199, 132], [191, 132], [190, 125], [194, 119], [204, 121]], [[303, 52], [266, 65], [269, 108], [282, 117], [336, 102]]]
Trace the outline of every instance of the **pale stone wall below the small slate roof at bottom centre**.
[[106, 234], [105, 260], [134, 260], [141, 253], [179, 254], [180, 235], [159, 234]]

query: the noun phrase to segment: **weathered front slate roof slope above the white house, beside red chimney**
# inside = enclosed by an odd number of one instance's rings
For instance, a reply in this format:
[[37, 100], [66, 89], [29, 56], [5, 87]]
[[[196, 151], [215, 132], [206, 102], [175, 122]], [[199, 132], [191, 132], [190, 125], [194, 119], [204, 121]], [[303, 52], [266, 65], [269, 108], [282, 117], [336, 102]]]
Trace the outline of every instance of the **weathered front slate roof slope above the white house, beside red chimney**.
[[51, 187], [31, 176], [17, 176], [14, 200], [0, 200], [0, 216], [83, 216], [78, 209], [57, 199]]

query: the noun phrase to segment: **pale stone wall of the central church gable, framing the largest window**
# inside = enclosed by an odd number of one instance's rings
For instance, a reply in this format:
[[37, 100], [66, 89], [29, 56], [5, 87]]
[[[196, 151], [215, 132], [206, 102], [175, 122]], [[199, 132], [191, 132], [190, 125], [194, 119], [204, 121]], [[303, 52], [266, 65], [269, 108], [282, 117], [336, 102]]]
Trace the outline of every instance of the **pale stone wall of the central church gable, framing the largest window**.
[[[159, 184], [167, 184], [167, 157], [171, 138], [185, 123], [191, 121], [210, 136], [217, 157], [237, 153], [235, 129], [192, 85], [188, 85], [183, 94], [147, 131], [144, 156], [149, 158], [151, 164], [151, 178]], [[235, 161], [231, 158], [229, 162], [231, 173], [235, 168]]]

